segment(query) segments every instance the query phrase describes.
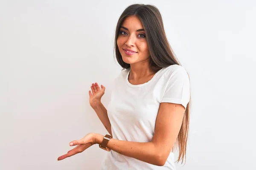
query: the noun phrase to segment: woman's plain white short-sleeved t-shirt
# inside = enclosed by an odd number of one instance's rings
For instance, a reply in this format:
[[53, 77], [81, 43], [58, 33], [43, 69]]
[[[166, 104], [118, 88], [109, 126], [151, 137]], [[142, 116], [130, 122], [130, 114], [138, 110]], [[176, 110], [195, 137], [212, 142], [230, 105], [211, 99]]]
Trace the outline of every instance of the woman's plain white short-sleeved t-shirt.
[[[162, 68], [146, 83], [132, 85], [128, 81], [130, 68], [114, 80], [108, 118], [114, 139], [131, 142], [151, 142], [157, 112], [161, 102], [189, 102], [190, 85], [186, 70], [180, 65]], [[119, 154], [113, 150], [102, 162], [102, 170], [175, 170], [171, 152], [164, 166], [156, 166]]]

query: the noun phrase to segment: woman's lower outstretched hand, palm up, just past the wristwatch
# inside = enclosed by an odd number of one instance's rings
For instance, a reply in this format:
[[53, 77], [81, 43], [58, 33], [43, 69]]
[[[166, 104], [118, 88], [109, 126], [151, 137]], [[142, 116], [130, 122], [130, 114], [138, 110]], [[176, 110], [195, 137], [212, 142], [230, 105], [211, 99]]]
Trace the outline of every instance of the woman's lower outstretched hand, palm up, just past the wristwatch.
[[[58, 157], [58, 161], [65, 159], [67, 157], [76, 155], [77, 153], [81, 153], [86, 150], [88, 147], [92, 146], [93, 144], [99, 143], [99, 135], [97, 133], [88, 133], [80, 140], [75, 140], [70, 142], [70, 146], [75, 146], [72, 150], [69, 150], [65, 155]], [[103, 137], [102, 137], [103, 140]]]

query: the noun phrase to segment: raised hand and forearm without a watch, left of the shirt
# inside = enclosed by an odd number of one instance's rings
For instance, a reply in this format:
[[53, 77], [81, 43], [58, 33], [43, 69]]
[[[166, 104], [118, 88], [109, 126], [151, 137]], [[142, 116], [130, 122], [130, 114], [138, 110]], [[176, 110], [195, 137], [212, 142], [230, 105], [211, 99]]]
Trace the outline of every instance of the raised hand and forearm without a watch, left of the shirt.
[[90, 106], [97, 113], [97, 116], [99, 117], [100, 121], [102, 122], [104, 127], [108, 130], [108, 133], [110, 133], [112, 136], [111, 123], [108, 119], [108, 111], [101, 102], [101, 98], [105, 94], [105, 87], [101, 85], [101, 88], [100, 88], [98, 83], [95, 83], [95, 84], [93, 83], [91, 86], [91, 90], [92, 92], [89, 91]]

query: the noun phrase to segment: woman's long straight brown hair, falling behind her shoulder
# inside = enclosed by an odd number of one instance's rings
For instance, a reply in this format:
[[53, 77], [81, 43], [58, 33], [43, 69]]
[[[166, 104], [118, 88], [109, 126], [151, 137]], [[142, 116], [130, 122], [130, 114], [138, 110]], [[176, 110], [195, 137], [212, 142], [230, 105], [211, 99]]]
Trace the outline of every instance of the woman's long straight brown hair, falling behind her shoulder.
[[[153, 5], [133, 4], [131, 6], [128, 6], [119, 17], [115, 32], [115, 56], [117, 62], [119, 63], [119, 65], [121, 65], [123, 69], [127, 69], [131, 66], [130, 64], [125, 63], [122, 60], [122, 56], [118, 50], [116, 41], [119, 35], [120, 26], [122, 25], [125, 18], [129, 16], [137, 16], [144, 26], [146, 40], [148, 43], [148, 49], [150, 53], [150, 67], [152, 70], [158, 71], [161, 68], [165, 68], [170, 65], [180, 65], [180, 62], [175, 57], [171, 45], [169, 44], [166, 38], [163, 20], [160, 11], [157, 9], [157, 7]], [[186, 146], [189, 132], [190, 105], [191, 99], [187, 104], [180, 132], [177, 136], [177, 140], [174, 146], [174, 148], [177, 148], [179, 150], [179, 157], [177, 161], [182, 160], [182, 162], [184, 157], [186, 160]]]

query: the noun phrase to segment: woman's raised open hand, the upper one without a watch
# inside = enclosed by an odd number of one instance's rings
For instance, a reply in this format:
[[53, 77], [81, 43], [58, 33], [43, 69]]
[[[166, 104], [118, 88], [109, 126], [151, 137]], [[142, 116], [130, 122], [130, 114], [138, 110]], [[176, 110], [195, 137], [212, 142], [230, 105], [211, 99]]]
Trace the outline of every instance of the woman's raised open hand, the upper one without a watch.
[[91, 86], [92, 92], [89, 91], [89, 102], [90, 106], [93, 108], [101, 102], [102, 96], [105, 94], [105, 87], [101, 85], [99, 87], [98, 83], [93, 83]]

